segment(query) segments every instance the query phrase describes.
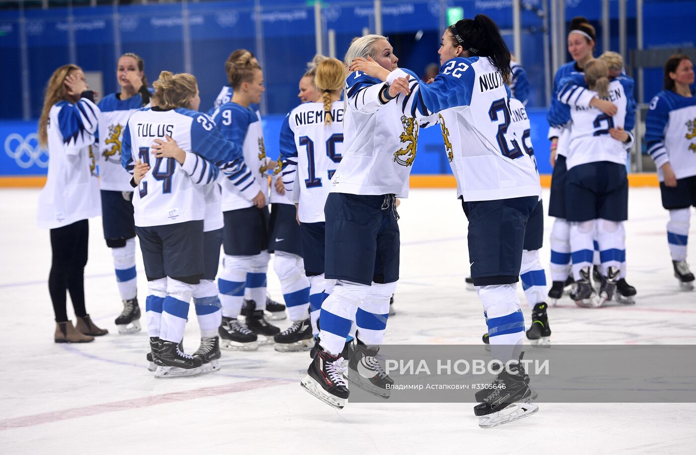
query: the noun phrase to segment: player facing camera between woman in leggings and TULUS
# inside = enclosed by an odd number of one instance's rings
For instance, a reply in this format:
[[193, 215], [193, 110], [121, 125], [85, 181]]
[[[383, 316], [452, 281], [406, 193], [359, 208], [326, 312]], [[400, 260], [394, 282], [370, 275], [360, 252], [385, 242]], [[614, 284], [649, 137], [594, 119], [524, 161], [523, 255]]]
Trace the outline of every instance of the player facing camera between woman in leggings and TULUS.
[[121, 166], [123, 129], [128, 118], [150, 102], [145, 63], [129, 52], [118, 58], [116, 80], [120, 92], [106, 95], [99, 103], [99, 174], [102, 225], [106, 246], [111, 248], [123, 311], [116, 318], [118, 332], [136, 333], [140, 327], [138, 279], [135, 270], [135, 221], [130, 175]]

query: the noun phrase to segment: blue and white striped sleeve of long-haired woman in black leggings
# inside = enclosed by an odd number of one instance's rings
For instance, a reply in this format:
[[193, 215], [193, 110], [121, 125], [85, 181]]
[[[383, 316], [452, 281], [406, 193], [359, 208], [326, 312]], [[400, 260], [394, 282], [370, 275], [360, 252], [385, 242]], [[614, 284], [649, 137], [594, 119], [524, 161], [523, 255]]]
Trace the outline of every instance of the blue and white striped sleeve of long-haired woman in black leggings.
[[74, 104], [63, 104], [58, 112], [58, 128], [67, 154], [78, 154], [82, 148], [95, 142], [99, 117], [99, 108], [87, 98], [80, 98]]

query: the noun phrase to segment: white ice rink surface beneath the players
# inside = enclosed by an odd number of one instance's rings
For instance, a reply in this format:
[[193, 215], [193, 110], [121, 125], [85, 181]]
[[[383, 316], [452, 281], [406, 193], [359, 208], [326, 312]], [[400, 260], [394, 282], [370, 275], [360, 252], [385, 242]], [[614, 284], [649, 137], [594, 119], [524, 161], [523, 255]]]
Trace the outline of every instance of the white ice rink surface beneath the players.
[[[308, 353], [272, 346], [223, 351], [222, 369], [213, 374], [155, 379], [146, 369], [146, 331], [118, 335], [113, 324], [122, 305], [100, 218], [90, 221], [85, 287], [88, 312], [110, 333], [88, 344], [55, 344], [49, 233], [35, 227], [37, 197], [33, 189], [0, 191], [0, 454], [695, 451], [696, 404], [540, 403], [535, 415], [485, 430], [473, 404], [384, 401], [334, 410], [299, 385]], [[696, 344], [696, 293], [679, 292], [672, 276], [659, 191], [631, 189], [629, 199], [627, 280], [638, 289], [637, 304], [590, 310], [565, 298], [548, 310], [553, 343]], [[480, 343], [486, 328], [480, 301], [464, 286], [466, 218], [454, 190], [413, 190], [399, 211], [401, 280], [385, 342]], [[548, 277], [550, 218], [545, 227], [541, 260]], [[690, 255], [696, 265], [693, 246]], [[138, 270], [145, 326], [140, 258]], [[282, 301], [272, 267], [268, 281]], [[519, 293], [523, 298], [521, 286]], [[524, 301], [523, 310], [529, 324]], [[199, 336], [191, 309], [188, 352]]]

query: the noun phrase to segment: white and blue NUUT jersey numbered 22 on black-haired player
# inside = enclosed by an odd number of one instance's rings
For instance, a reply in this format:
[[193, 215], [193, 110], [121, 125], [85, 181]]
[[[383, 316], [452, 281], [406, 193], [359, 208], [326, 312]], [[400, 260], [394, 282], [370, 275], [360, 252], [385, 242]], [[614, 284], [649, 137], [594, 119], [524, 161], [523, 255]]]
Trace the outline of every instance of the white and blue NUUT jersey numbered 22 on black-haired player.
[[[407, 77], [394, 70], [387, 81]], [[411, 78], [413, 79], [413, 78]], [[411, 93], [393, 102], [419, 120], [438, 114], [445, 150], [466, 201], [541, 195], [534, 163], [508, 128], [509, 88], [488, 58], [452, 58], [435, 80], [411, 80]]]

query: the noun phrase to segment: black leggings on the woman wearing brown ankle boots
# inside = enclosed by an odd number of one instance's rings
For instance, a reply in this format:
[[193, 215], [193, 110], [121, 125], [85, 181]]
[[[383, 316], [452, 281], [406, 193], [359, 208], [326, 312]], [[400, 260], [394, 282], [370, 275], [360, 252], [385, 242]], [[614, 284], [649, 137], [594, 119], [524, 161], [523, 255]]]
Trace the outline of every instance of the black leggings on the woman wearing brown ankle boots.
[[86, 316], [84, 272], [87, 264], [89, 223], [77, 221], [51, 230], [53, 259], [48, 276], [48, 291], [51, 294], [56, 322], [68, 321], [65, 307], [65, 291], [70, 292], [75, 316]]

